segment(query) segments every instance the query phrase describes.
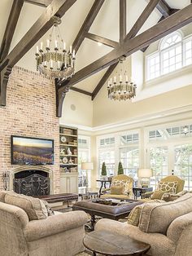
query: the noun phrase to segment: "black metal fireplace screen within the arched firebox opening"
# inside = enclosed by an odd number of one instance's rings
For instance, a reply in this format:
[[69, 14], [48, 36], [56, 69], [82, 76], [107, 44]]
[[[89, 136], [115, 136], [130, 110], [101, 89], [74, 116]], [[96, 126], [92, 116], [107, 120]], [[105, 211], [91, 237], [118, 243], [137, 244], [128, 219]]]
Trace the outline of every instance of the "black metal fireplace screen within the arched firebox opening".
[[24, 170], [15, 174], [14, 191], [26, 196], [50, 194], [49, 174], [41, 170]]

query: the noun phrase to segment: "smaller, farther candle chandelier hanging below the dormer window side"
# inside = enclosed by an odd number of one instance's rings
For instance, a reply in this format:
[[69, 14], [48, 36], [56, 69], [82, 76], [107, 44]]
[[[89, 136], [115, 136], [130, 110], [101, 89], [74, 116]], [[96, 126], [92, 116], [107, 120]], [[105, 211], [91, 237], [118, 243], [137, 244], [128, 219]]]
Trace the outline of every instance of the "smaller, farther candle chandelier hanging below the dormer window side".
[[137, 86], [132, 81], [129, 81], [127, 72], [123, 66], [124, 60], [124, 56], [119, 60], [120, 65], [122, 65], [119, 75], [108, 81], [107, 90], [109, 99], [125, 100], [131, 99], [136, 95]]

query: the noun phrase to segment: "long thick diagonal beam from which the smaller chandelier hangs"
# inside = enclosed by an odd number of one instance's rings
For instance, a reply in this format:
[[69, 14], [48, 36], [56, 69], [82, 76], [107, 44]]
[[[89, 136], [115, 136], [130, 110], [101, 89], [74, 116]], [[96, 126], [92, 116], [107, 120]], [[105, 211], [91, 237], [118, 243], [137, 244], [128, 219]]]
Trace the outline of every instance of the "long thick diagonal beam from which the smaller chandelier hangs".
[[[68, 82], [68, 86], [81, 82], [85, 78], [99, 72], [103, 68], [107, 68], [109, 65], [116, 63], [120, 56], [129, 56], [134, 52], [149, 46], [152, 42], [155, 42], [160, 38], [164, 38], [169, 33], [172, 33], [177, 29], [181, 29], [181, 27], [185, 26], [186, 24], [190, 24], [190, 22], [192, 22], [192, 4], [185, 7], [181, 11], [177, 11], [167, 19], [162, 20], [159, 22], [159, 24], [155, 24], [155, 26], [137, 35], [137, 37], [133, 39], [126, 38], [122, 45], [118, 46], [107, 55], [104, 55], [102, 58], [94, 61], [94, 63], [89, 64], [85, 68], [82, 68], [80, 71], [75, 73], [70, 82]], [[63, 88], [61, 87], [59, 90], [62, 91]]]

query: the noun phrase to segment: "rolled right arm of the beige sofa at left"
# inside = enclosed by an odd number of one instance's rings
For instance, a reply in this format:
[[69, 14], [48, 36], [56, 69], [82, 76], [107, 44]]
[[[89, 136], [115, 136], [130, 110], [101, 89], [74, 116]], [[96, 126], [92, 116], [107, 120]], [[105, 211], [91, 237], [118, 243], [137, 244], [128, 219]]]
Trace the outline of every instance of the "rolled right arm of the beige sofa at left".
[[33, 220], [24, 229], [27, 241], [36, 241], [42, 237], [55, 235], [69, 229], [81, 227], [88, 220], [84, 211], [76, 210], [69, 213], [50, 216], [46, 219]]

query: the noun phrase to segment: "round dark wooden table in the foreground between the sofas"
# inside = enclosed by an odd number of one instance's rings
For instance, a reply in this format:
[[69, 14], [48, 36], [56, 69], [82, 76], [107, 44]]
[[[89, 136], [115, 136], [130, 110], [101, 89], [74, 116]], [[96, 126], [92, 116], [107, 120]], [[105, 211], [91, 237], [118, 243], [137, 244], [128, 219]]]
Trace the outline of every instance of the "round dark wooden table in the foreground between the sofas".
[[90, 232], [84, 237], [85, 247], [96, 254], [112, 256], [145, 255], [151, 245], [134, 240], [129, 236], [122, 236], [107, 231]]

